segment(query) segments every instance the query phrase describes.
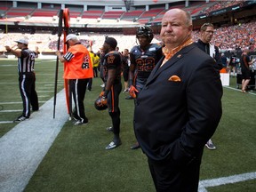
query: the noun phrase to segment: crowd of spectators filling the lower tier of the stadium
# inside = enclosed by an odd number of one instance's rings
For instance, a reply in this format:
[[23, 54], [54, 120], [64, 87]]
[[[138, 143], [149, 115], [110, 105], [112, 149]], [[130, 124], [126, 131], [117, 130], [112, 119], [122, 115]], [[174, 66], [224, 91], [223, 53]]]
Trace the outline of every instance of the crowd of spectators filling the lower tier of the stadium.
[[[80, 36], [80, 40], [84, 45], [89, 45], [92, 42], [92, 49], [94, 52], [98, 52], [102, 46], [105, 36], [113, 36], [118, 42], [120, 50], [125, 48], [132, 48], [136, 44], [135, 36], [124, 36], [124, 35], [111, 35], [111, 34], [84, 34]], [[193, 31], [193, 39], [196, 41], [199, 36], [199, 31]], [[156, 38], [153, 42], [159, 41]], [[34, 49], [38, 46], [40, 52], [55, 52], [57, 49], [58, 36], [49, 33], [44, 34], [21, 34], [21, 33], [8, 33], [0, 34], [0, 52], [4, 52], [4, 45], [15, 45], [14, 40], [20, 38], [27, 38], [29, 40], [29, 48]], [[62, 39], [62, 37], [61, 37]], [[221, 27], [215, 29], [214, 38], [212, 43], [220, 47], [221, 52], [234, 51], [237, 47], [242, 50], [249, 49], [250, 51], [256, 51], [256, 21], [249, 23], [242, 23], [235, 26]], [[62, 45], [62, 43], [60, 43]], [[62, 46], [60, 46], [60, 50]]]

